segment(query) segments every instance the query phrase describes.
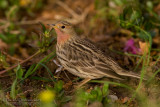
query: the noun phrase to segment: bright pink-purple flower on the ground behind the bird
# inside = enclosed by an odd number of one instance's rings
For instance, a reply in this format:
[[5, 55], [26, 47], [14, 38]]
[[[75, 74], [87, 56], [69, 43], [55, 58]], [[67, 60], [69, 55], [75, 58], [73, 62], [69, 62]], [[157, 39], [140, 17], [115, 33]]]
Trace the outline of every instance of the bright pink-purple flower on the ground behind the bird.
[[125, 48], [124, 48], [124, 51], [125, 52], [129, 52], [129, 53], [132, 53], [132, 54], [137, 54], [140, 52], [140, 48], [137, 48], [135, 45], [134, 45], [134, 39], [129, 39], [126, 44], [125, 44]]

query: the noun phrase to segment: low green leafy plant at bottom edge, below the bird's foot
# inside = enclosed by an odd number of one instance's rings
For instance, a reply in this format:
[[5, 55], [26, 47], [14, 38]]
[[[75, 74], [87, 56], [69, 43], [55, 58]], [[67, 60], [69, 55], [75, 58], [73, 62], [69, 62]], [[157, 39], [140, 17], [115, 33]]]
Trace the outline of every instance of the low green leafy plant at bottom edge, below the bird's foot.
[[82, 89], [78, 90], [75, 95], [74, 106], [85, 107], [94, 102], [102, 102], [104, 105], [108, 104], [110, 102], [107, 97], [108, 86], [108, 83], [104, 83], [102, 89], [100, 87], [95, 87], [91, 92], [86, 92]]

